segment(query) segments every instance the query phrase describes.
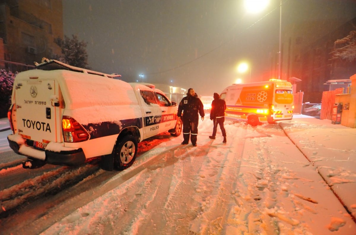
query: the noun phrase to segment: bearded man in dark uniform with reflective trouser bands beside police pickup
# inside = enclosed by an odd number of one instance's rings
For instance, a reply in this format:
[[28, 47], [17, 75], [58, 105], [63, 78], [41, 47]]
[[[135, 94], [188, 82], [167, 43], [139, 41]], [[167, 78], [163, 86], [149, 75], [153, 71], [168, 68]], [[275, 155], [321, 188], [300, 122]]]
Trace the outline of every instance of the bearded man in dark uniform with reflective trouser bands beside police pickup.
[[[183, 111], [183, 115], [182, 115]], [[198, 95], [194, 92], [193, 88], [188, 89], [187, 96], [180, 101], [178, 106], [178, 118], [182, 117], [183, 120], [183, 142], [182, 145], [188, 144], [189, 136], [190, 142], [193, 146], [197, 146], [197, 135], [198, 135], [198, 122], [199, 115], [201, 116], [201, 121], [204, 120], [204, 107]]]

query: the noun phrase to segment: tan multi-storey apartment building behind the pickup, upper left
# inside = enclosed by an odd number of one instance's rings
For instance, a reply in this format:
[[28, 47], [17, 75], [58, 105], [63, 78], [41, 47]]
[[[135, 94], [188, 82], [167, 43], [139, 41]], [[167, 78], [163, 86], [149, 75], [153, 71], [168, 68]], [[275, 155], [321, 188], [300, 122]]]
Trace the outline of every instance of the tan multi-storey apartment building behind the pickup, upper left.
[[23, 71], [61, 54], [62, 11], [62, 0], [0, 0], [0, 69]]

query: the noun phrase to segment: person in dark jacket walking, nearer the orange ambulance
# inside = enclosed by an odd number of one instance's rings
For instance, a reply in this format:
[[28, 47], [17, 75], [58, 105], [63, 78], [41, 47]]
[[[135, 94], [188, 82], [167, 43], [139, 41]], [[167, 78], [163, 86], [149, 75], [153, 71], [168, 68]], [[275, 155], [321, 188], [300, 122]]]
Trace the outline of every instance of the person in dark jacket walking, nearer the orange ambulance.
[[224, 127], [225, 109], [226, 109], [225, 100], [220, 99], [218, 93], [214, 93], [214, 100], [213, 102], [211, 102], [211, 110], [210, 110], [210, 120], [213, 120], [214, 128], [213, 128], [213, 135], [209, 136], [209, 138], [215, 140], [216, 130], [218, 129], [218, 124], [219, 124], [221, 133], [224, 136], [223, 143], [226, 143], [226, 131]]

